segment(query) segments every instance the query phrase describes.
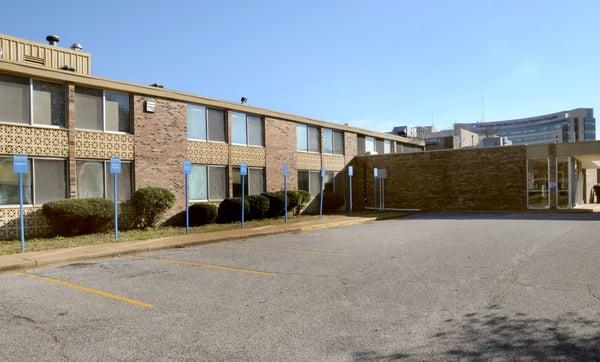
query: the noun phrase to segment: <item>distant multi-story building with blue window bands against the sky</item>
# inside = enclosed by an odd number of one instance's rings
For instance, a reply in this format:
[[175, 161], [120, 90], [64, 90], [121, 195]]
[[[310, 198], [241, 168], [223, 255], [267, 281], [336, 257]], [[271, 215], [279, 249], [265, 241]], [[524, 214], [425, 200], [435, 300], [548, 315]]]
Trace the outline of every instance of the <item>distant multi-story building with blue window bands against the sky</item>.
[[513, 144], [566, 143], [596, 139], [596, 119], [591, 108], [576, 108], [506, 121], [457, 123], [455, 128], [457, 126], [476, 132], [484, 138], [493, 135], [506, 137]]

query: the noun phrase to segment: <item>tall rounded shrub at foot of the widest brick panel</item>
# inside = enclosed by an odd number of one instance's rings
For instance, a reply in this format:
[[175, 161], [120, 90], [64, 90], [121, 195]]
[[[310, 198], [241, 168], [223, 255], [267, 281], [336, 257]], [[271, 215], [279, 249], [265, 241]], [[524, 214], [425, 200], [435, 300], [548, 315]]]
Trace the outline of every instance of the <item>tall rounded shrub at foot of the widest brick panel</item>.
[[155, 226], [161, 217], [175, 204], [175, 195], [160, 187], [143, 187], [136, 190], [129, 200], [134, 212], [132, 222], [136, 227]]

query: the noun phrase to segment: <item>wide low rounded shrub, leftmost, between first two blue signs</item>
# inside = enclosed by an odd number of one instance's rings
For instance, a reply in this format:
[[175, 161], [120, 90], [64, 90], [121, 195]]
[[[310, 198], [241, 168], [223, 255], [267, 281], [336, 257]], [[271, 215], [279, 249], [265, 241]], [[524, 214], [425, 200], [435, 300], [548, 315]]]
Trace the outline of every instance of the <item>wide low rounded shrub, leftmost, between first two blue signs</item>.
[[66, 199], [42, 206], [42, 213], [54, 231], [63, 236], [106, 231], [113, 223], [113, 203], [104, 198]]

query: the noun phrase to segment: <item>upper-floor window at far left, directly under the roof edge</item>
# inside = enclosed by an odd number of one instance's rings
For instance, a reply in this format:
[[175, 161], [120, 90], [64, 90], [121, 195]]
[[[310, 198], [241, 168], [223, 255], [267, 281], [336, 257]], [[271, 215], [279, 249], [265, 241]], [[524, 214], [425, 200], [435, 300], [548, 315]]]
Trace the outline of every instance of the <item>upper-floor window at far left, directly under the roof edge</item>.
[[64, 89], [62, 84], [0, 74], [0, 121], [64, 127]]

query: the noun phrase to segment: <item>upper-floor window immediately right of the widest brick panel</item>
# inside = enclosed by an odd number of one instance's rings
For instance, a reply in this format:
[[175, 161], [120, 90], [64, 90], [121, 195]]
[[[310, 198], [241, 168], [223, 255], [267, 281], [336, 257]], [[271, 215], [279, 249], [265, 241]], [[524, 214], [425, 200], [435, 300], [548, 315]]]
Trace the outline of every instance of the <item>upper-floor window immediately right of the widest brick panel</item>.
[[187, 107], [188, 138], [225, 142], [225, 111], [190, 104]]

